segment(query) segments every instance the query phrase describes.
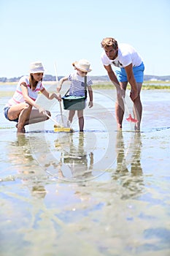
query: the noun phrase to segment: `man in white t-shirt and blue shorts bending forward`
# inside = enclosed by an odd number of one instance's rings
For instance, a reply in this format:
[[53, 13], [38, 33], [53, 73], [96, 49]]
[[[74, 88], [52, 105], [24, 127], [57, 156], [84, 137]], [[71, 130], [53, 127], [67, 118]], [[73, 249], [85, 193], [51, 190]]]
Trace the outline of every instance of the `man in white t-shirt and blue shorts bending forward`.
[[[142, 58], [136, 50], [128, 44], [120, 43], [112, 37], [106, 37], [101, 42], [104, 52], [101, 54], [101, 61], [104, 68], [107, 69], [109, 79], [117, 89], [117, 102], [115, 104], [115, 114], [117, 119], [117, 129], [122, 128], [124, 114], [124, 97], [127, 84], [131, 85], [130, 97], [134, 102], [134, 118], [138, 120], [135, 123], [135, 129], [140, 130], [142, 118], [142, 102], [140, 91], [142, 89], [144, 77], [144, 64]], [[117, 67], [115, 72], [111, 65]]]

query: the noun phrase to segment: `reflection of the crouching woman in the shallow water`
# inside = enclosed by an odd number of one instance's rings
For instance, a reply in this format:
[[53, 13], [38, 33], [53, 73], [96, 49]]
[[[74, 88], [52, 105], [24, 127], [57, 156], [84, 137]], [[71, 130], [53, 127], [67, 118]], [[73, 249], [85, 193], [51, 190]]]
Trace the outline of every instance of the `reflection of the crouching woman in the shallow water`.
[[16, 172], [18, 173], [15, 175], [15, 178], [20, 178], [24, 186], [28, 187], [31, 191], [31, 195], [40, 198], [46, 195], [43, 185], [45, 178], [31, 152], [31, 140], [35, 140], [35, 138], [26, 136], [26, 134], [18, 134], [17, 140], [12, 141], [9, 145], [8, 157], [10, 163], [15, 165]]

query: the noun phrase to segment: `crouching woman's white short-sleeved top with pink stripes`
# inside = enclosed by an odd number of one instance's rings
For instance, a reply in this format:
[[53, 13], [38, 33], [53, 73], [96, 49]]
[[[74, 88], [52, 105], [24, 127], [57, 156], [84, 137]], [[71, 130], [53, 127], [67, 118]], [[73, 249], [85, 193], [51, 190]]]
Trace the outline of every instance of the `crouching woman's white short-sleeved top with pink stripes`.
[[21, 83], [26, 83], [27, 88], [28, 88], [28, 96], [31, 99], [33, 99], [34, 101], [38, 97], [39, 91], [42, 91], [42, 89], [44, 89], [44, 87], [42, 86], [42, 82], [40, 81], [39, 83], [37, 83], [36, 89], [34, 91], [32, 91], [30, 88], [30, 84], [29, 84], [29, 77], [23, 76], [22, 78], [20, 78], [18, 85], [17, 85], [17, 89], [16, 89], [13, 97], [11, 99], [9, 99], [9, 102], [7, 102], [6, 107], [11, 107], [13, 105], [17, 105], [19, 103], [25, 102], [25, 99], [23, 98], [23, 93], [22, 93], [22, 90], [20, 87]]

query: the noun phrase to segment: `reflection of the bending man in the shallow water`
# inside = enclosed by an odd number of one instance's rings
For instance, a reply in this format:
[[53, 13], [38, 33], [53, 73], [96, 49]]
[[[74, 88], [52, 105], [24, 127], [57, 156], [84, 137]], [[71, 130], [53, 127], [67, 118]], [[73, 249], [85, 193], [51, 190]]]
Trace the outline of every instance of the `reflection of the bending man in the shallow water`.
[[122, 195], [123, 199], [138, 195], [144, 187], [141, 165], [141, 133], [134, 132], [133, 134], [127, 156], [123, 132], [117, 132], [117, 167], [112, 178], [120, 181], [120, 184], [125, 188], [125, 193]]

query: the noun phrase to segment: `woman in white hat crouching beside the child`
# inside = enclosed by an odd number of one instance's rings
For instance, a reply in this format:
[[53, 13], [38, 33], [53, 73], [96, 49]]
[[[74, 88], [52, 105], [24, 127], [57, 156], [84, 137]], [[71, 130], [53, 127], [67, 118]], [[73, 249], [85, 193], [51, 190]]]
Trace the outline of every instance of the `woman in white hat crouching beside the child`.
[[42, 85], [44, 72], [45, 69], [41, 62], [31, 63], [29, 77], [23, 76], [20, 78], [15, 94], [9, 99], [9, 102], [4, 108], [4, 116], [7, 120], [17, 122], [17, 132], [26, 132], [25, 125], [27, 124], [35, 124], [47, 120], [46, 113], [50, 116], [49, 111], [44, 110], [36, 104], [39, 91], [47, 99], [55, 98], [61, 101], [60, 94], [49, 94]]

